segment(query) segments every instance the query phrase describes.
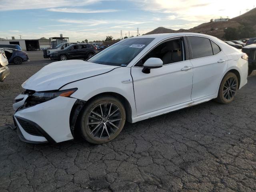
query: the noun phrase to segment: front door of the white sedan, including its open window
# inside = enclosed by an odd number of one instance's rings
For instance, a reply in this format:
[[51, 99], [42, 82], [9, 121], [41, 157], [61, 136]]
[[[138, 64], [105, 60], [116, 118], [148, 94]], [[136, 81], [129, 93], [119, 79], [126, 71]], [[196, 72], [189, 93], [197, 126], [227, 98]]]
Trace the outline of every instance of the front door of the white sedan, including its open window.
[[[181, 39], [163, 42], [132, 67], [137, 115], [191, 101], [193, 68], [184, 60], [182, 44]], [[151, 57], [162, 59], [163, 66], [145, 74], [140, 65]]]

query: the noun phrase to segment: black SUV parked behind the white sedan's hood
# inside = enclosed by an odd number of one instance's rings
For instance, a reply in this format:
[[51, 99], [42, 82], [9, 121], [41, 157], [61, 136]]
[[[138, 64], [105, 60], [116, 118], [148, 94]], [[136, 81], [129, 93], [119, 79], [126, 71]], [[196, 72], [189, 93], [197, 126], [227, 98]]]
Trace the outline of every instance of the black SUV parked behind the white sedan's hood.
[[96, 53], [90, 44], [74, 44], [50, 54], [52, 60], [87, 59]]

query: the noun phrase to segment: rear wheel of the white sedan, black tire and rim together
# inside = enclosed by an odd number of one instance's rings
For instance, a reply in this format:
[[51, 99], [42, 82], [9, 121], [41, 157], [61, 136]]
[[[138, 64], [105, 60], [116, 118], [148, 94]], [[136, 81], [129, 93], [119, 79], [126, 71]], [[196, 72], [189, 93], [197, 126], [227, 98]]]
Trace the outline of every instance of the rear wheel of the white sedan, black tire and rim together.
[[[228, 84], [228, 82], [230, 82], [230, 84]], [[215, 101], [222, 104], [228, 104], [234, 100], [237, 90], [238, 78], [236, 74], [228, 72], [220, 83], [218, 97]]]

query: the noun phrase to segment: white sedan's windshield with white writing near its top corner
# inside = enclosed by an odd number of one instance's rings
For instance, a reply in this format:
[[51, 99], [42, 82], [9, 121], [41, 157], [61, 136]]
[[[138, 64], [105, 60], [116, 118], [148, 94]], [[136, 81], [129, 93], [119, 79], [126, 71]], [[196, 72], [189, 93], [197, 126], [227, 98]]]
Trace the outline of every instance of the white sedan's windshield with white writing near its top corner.
[[102, 50], [87, 61], [104, 65], [126, 66], [150, 44], [152, 40], [154, 40], [154, 38], [125, 39]]

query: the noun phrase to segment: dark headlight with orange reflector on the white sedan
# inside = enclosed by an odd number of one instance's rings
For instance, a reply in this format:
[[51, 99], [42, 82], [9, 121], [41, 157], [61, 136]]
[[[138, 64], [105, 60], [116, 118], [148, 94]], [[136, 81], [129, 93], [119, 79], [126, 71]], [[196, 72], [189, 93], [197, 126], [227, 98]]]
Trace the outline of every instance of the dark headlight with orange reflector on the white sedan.
[[31, 96], [28, 97], [26, 102], [29, 105], [35, 105], [35, 104], [39, 104], [39, 103], [54, 99], [58, 96], [69, 97], [76, 90], [77, 90], [77, 88], [61, 90], [61, 91], [57, 90], [57, 91], [35, 92], [34, 94], [32, 94]]

